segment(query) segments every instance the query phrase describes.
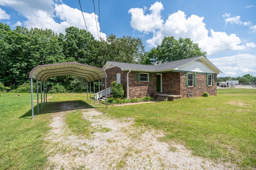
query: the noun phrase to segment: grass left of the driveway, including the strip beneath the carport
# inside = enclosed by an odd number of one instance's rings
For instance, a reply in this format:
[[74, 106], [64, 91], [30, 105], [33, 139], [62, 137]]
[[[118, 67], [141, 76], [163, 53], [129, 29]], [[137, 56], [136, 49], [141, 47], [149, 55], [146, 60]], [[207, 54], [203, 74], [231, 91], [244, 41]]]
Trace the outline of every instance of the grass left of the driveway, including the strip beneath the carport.
[[[89, 94], [90, 95], [90, 94]], [[47, 107], [31, 119], [31, 94], [2, 93], [0, 96], [0, 169], [40, 170], [46, 167], [51, 115], [62, 110], [61, 104], [76, 103], [78, 108], [92, 108], [84, 101], [87, 94], [54, 94]], [[72, 96], [72, 97], [71, 97]], [[33, 96], [36, 100], [36, 94]], [[90, 101], [89, 101], [90, 102]], [[93, 104], [92, 102], [90, 102]]]

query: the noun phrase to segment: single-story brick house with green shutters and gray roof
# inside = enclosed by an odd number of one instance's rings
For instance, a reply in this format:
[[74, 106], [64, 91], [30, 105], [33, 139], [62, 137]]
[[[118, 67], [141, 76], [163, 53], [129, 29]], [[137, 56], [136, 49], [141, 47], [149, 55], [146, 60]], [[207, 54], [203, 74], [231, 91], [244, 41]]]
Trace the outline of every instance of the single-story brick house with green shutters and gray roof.
[[[108, 74], [106, 86], [117, 81], [127, 98], [156, 97], [156, 94], [201, 96], [217, 94], [217, 75], [222, 72], [206, 57], [198, 56], [158, 65], [108, 61], [103, 70]], [[105, 85], [105, 80], [102, 80]]]

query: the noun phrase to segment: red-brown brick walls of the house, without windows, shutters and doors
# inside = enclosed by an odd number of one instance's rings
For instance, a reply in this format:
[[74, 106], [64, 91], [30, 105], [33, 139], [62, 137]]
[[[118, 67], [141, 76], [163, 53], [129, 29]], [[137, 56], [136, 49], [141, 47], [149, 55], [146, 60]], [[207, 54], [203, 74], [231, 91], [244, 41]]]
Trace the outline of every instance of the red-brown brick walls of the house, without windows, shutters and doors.
[[[121, 74], [121, 84], [124, 89], [124, 96], [127, 97], [127, 72], [121, 71], [118, 67], [106, 70], [108, 75], [107, 88], [111, 86], [111, 82], [116, 81], [116, 74]], [[217, 76], [214, 75], [214, 86], [206, 86], [206, 74], [196, 74], [196, 87], [186, 87], [185, 72], [171, 72], [162, 74], [162, 93], [182, 95], [186, 98], [188, 90], [193, 93], [192, 97], [201, 96], [204, 92], [208, 92], [210, 96], [217, 95]], [[105, 87], [102, 87], [104, 89]], [[155, 97], [156, 94], [156, 74], [152, 73], [151, 82], [138, 82], [137, 72], [129, 73], [129, 98], [142, 98], [145, 96]]]

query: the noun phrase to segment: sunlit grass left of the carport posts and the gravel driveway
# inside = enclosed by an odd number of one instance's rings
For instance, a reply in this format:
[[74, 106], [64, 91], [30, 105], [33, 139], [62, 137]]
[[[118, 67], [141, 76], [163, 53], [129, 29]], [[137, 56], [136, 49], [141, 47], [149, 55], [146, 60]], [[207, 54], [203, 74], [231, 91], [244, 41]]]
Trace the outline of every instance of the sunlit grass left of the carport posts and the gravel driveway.
[[31, 116], [30, 94], [1, 94], [0, 169], [40, 169], [46, 161], [42, 141], [50, 129], [47, 115]]

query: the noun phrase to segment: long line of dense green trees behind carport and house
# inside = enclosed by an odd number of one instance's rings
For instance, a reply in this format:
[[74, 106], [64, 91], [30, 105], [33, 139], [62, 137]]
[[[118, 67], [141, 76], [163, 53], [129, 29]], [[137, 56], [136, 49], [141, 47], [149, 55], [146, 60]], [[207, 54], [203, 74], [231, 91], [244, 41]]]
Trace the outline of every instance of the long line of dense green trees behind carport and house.
[[[0, 23], [0, 92], [23, 89], [29, 84], [29, 72], [41, 64], [78, 62], [102, 68], [107, 61], [138, 64], [160, 64], [199, 55], [198, 44], [189, 38], [165, 37], [161, 45], [146, 52], [140, 38], [107, 36], [94, 39], [90, 32], [67, 27], [59, 35], [51, 29], [17, 26], [10, 29]], [[84, 80], [73, 76], [50, 78], [47, 86], [52, 92], [82, 92]]]

